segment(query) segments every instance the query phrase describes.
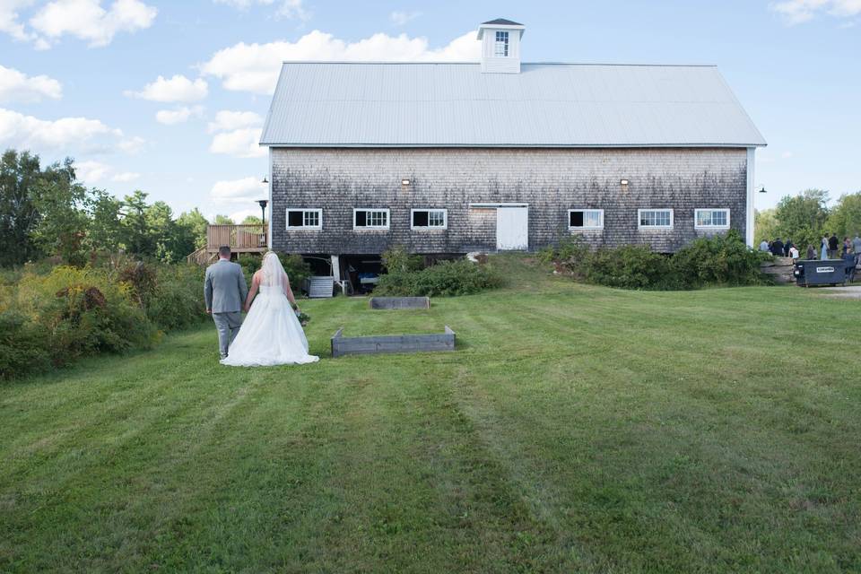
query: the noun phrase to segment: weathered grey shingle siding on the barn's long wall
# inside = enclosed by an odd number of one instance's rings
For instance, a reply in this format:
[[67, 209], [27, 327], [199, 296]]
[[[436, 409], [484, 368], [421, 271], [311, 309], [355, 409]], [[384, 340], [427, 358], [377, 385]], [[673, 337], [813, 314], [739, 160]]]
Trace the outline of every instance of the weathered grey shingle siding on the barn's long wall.
[[[309, 149], [272, 150], [274, 248], [293, 253], [417, 253], [496, 247], [492, 210], [529, 204], [529, 248], [568, 233], [568, 210], [604, 209], [595, 245], [648, 244], [669, 252], [697, 236], [696, 208], [728, 208], [744, 237], [744, 149]], [[411, 185], [402, 187], [409, 178]], [[620, 185], [628, 179], [627, 190]], [[323, 230], [286, 230], [288, 207], [323, 209]], [[354, 207], [387, 207], [389, 230], [353, 230]], [[412, 208], [448, 209], [448, 230], [411, 230]], [[672, 208], [672, 230], [639, 230], [637, 210]]]

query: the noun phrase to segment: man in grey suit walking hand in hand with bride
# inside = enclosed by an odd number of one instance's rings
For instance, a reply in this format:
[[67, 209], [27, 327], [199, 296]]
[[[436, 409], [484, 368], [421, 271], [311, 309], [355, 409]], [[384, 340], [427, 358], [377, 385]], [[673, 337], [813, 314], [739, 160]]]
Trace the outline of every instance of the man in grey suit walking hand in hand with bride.
[[239, 312], [248, 295], [248, 285], [242, 267], [230, 263], [230, 248], [218, 248], [218, 263], [206, 268], [204, 280], [204, 299], [206, 312], [211, 313], [215, 328], [218, 329], [218, 350], [222, 359], [227, 358], [227, 351], [242, 325], [242, 314]]

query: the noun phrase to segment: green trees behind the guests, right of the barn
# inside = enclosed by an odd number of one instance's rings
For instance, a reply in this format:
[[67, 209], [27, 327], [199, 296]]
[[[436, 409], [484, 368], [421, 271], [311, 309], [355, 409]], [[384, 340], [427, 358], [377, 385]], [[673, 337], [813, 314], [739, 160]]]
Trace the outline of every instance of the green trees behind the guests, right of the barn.
[[804, 253], [808, 245], [818, 250], [822, 237], [833, 234], [842, 240], [861, 233], [861, 191], [841, 196], [832, 207], [828, 204], [828, 192], [822, 189], [783, 197], [776, 207], [756, 212], [757, 243], [790, 239]]

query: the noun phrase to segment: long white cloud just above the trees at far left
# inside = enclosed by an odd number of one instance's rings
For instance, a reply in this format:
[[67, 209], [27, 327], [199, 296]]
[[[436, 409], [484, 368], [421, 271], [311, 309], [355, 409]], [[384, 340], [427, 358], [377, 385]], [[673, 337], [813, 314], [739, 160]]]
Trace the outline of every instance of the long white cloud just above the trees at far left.
[[13, 147], [33, 152], [111, 152], [119, 148], [133, 152], [143, 145], [139, 137], [126, 138], [117, 128], [98, 119], [61, 117], [56, 120], [24, 116], [0, 108], [0, 148]]

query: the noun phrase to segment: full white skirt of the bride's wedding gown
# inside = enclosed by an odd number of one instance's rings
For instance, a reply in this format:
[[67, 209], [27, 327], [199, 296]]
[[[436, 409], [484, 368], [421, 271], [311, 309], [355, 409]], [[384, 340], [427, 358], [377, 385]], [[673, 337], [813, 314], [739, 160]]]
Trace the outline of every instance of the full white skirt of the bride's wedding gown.
[[222, 365], [268, 367], [316, 361], [319, 357], [308, 354], [308, 339], [284, 295], [283, 286], [260, 285]]

